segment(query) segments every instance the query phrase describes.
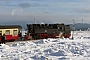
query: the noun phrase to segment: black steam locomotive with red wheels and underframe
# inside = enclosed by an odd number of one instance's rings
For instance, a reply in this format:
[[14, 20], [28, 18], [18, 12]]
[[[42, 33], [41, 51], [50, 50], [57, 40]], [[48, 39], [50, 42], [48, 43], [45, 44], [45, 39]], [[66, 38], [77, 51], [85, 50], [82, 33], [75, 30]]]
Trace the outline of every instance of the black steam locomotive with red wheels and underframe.
[[27, 32], [32, 39], [69, 38], [70, 26], [64, 24], [27, 24]]

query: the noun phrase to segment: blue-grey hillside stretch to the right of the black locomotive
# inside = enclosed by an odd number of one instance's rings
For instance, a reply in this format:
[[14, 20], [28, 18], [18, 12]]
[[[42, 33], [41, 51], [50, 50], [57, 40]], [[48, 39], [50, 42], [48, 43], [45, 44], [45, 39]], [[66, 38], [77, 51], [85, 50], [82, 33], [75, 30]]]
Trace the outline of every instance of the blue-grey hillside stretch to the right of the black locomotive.
[[[70, 27], [71, 27], [71, 29], [72, 29], [72, 27], [73, 27], [73, 25], [72, 24], [70, 24]], [[83, 25], [82, 25], [82, 23], [76, 23], [75, 25], [74, 25], [74, 27], [75, 27], [75, 30], [87, 30], [88, 28], [90, 28], [90, 24], [87, 24], [87, 23], [83, 23]]]

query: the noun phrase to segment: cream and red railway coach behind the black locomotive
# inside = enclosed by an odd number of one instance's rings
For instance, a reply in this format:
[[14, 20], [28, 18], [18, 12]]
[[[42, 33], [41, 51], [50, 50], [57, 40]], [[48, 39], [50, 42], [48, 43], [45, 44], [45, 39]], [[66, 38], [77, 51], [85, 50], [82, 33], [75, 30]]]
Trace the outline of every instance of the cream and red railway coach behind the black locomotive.
[[19, 29], [21, 28], [22, 27], [20, 25], [8, 25], [8, 26], [1, 25], [0, 34], [1, 35], [5, 34], [6, 41], [15, 41], [19, 37], [18, 32], [19, 32]]

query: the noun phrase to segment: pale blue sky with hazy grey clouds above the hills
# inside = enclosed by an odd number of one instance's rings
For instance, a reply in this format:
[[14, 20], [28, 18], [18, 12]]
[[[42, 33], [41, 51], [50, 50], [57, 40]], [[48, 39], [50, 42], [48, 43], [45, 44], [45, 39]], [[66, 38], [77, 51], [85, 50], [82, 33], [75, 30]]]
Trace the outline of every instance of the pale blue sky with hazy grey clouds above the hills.
[[0, 0], [0, 21], [90, 23], [90, 0]]

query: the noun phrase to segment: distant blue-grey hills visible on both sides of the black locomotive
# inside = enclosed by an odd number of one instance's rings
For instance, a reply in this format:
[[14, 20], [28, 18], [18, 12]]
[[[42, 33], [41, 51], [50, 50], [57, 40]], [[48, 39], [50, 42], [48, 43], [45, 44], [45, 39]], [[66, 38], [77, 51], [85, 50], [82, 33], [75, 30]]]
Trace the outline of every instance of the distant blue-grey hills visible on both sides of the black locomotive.
[[[27, 23], [33, 23], [33, 21], [17, 21], [17, 22], [0, 22], [0, 25], [21, 25], [25, 30], [27, 29], [26, 24]], [[70, 28], [72, 29], [72, 24], [69, 24]], [[75, 25], [75, 29], [76, 30], [82, 30], [82, 23], [76, 23]], [[83, 30], [87, 30], [88, 28], [90, 28], [90, 24], [87, 23], [83, 23]]]

